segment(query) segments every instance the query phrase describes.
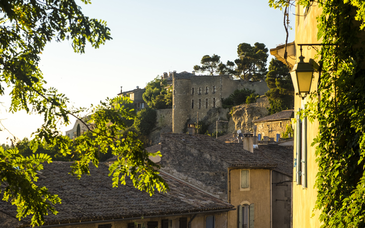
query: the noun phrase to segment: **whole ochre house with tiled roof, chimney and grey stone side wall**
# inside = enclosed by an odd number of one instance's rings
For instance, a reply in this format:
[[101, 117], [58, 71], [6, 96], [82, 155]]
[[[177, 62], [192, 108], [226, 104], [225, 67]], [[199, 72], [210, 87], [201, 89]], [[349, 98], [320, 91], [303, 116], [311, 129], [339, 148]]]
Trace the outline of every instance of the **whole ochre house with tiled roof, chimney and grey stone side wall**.
[[206, 135], [161, 135], [161, 170], [233, 205], [227, 228], [290, 228], [292, 147], [227, 144]]

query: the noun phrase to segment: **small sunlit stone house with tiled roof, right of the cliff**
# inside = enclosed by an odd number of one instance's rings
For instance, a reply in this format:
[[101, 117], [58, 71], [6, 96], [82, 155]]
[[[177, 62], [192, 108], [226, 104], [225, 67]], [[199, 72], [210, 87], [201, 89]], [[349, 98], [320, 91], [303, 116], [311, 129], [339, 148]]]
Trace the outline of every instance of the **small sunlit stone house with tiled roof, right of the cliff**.
[[256, 126], [258, 140], [263, 140], [266, 136], [271, 141], [279, 142], [279, 138], [281, 138], [282, 134], [287, 130], [287, 125], [292, 124], [291, 118], [294, 117], [293, 113], [294, 110], [285, 110], [253, 120], [252, 123]]

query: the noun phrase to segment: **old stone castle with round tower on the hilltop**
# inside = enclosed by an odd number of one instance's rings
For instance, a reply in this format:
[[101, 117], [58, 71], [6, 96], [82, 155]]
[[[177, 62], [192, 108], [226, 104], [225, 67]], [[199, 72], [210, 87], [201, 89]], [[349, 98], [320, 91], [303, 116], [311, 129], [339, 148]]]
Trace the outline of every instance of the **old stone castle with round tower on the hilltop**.
[[234, 80], [232, 76], [197, 76], [195, 73], [172, 74], [172, 131], [182, 133], [188, 120], [207, 115], [212, 108], [222, 107], [222, 98], [234, 90], [249, 88], [259, 95], [269, 90], [265, 81], [249, 82]]

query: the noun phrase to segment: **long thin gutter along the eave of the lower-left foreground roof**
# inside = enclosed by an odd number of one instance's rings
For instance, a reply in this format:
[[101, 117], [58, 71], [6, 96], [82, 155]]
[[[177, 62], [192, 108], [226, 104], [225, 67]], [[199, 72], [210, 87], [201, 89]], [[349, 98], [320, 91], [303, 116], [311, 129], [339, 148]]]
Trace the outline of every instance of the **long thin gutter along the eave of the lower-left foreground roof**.
[[[79, 225], [84, 225], [84, 224], [108, 223], [108, 222], [116, 222], [116, 221], [138, 220], [138, 219], [170, 217], [170, 216], [182, 216], [182, 215], [197, 215], [197, 214], [212, 213], [212, 212], [214, 212], [214, 213], [216, 213], [216, 212], [228, 212], [228, 211], [234, 211], [234, 210], [236, 210], [236, 209], [235, 208], [230, 208], [230, 209], [221, 209], [221, 210], [216, 210], [216, 211], [191, 212], [191, 213], [170, 214], [170, 215], [142, 216], [142, 217], [133, 217], [133, 218], [97, 220], [97, 221], [87, 221], [87, 222], [81, 222], [80, 221], [79, 223], [46, 225], [46, 226], [34, 227], [34, 228], [64, 227], [64, 226], [76, 226], [76, 225], [79, 226]], [[25, 227], [25, 228], [32, 228], [32, 227]]]

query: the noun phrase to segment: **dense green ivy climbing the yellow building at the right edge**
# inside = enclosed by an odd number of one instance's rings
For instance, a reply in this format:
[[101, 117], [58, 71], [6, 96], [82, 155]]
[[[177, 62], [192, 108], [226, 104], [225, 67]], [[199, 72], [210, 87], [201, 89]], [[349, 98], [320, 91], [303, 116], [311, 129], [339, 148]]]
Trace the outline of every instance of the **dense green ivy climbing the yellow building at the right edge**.
[[[282, 1], [270, 0], [280, 7]], [[309, 0], [300, 4], [308, 5]], [[314, 210], [322, 228], [365, 227], [365, 4], [363, 0], [319, 0], [317, 38], [322, 72], [305, 111], [316, 119], [313, 140], [318, 173]]]

